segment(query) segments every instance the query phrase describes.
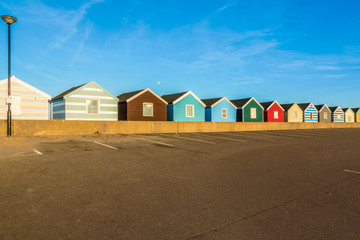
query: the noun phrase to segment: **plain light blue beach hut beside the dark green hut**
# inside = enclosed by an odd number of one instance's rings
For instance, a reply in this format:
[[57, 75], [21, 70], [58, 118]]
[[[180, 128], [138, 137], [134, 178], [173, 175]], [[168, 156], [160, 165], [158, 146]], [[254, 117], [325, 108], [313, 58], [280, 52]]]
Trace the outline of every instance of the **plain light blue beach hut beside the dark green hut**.
[[236, 122], [236, 106], [226, 97], [201, 99], [205, 103], [206, 122]]

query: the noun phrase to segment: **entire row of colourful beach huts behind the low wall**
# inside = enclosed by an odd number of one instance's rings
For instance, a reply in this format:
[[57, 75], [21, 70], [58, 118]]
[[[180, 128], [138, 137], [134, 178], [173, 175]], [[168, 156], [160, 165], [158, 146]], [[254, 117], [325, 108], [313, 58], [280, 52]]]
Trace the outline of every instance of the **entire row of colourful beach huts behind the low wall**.
[[[192, 91], [159, 96], [151, 89], [115, 97], [94, 81], [51, 98], [21, 81], [12, 82], [13, 119], [191, 122], [360, 122], [359, 108], [313, 103], [258, 102], [254, 97], [199, 99]], [[0, 81], [0, 118], [6, 118], [7, 79]]]

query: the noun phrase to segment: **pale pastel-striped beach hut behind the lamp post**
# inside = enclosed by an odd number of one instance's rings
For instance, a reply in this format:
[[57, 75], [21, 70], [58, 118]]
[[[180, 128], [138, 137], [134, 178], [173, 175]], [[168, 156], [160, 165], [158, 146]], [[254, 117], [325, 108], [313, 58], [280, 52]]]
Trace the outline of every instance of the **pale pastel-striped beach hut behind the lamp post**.
[[[0, 81], [0, 119], [7, 115], [8, 79]], [[12, 119], [48, 120], [50, 95], [11, 77], [11, 115]]]

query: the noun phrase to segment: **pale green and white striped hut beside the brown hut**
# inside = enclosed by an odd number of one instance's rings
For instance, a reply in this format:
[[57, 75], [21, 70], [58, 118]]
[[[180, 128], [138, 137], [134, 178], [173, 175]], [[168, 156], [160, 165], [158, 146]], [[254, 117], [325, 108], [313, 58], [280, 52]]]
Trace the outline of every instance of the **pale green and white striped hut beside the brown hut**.
[[118, 99], [94, 81], [70, 88], [50, 103], [54, 120], [118, 120]]

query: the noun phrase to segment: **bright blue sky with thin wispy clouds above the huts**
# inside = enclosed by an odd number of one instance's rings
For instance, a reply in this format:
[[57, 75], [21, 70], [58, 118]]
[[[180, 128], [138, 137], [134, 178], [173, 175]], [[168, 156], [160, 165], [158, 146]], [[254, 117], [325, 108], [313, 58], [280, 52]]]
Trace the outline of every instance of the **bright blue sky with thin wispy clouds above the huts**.
[[[200, 98], [360, 106], [360, 1], [12, 0], [12, 74]], [[2, 26], [2, 27], [1, 27]], [[7, 26], [0, 24], [0, 78]]]

